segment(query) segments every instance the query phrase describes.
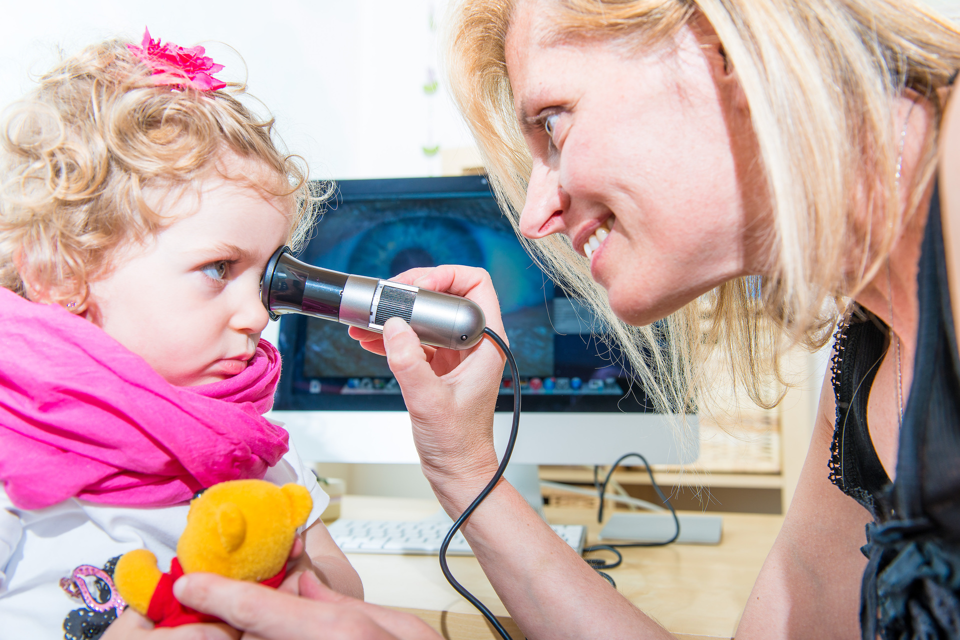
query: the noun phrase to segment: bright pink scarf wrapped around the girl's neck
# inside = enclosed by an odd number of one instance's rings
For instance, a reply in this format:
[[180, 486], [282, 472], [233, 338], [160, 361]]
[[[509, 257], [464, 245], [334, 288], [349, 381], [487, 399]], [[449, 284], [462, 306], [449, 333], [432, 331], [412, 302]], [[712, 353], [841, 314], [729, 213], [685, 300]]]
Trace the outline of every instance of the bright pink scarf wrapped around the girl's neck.
[[174, 387], [92, 322], [0, 287], [0, 480], [41, 509], [74, 496], [163, 507], [263, 478], [288, 449], [261, 415], [279, 375], [260, 341], [242, 373]]

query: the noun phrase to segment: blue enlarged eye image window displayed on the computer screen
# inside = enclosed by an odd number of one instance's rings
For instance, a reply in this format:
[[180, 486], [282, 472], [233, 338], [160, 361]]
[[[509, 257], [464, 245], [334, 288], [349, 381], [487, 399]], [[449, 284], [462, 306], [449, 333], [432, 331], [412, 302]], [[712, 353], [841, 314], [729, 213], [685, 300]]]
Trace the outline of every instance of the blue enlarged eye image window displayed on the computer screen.
[[[324, 214], [301, 259], [383, 279], [416, 267], [483, 267], [500, 300], [520, 375], [553, 375], [554, 332], [546, 306], [553, 284], [520, 247], [491, 199], [342, 203]], [[317, 319], [307, 320], [303, 373], [391, 377], [386, 359], [360, 348], [346, 327]]]

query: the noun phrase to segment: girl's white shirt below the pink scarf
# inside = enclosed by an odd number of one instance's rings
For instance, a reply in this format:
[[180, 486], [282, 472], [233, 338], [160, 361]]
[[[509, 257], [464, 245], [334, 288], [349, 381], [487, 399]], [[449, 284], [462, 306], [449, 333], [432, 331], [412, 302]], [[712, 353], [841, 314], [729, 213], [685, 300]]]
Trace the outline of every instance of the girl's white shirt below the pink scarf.
[[[310, 491], [313, 510], [299, 531], [316, 522], [329, 502], [292, 446], [264, 480], [297, 483]], [[12, 505], [0, 486], [0, 640], [62, 640], [64, 619], [86, 605], [67, 595], [60, 579], [80, 565], [103, 568], [111, 557], [149, 549], [160, 570], [169, 571], [189, 509], [187, 503], [138, 509], [71, 498], [46, 509], [23, 510]]]

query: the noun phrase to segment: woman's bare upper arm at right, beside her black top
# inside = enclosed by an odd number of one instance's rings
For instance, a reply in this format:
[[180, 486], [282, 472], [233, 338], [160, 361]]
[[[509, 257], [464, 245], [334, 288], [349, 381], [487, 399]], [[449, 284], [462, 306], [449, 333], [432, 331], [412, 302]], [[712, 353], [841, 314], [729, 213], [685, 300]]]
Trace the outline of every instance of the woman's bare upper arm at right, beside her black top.
[[860, 637], [860, 579], [870, 513], [832, 485], [835, 404], [829, 371], [797, 491], [737, 629], [753, 638]]

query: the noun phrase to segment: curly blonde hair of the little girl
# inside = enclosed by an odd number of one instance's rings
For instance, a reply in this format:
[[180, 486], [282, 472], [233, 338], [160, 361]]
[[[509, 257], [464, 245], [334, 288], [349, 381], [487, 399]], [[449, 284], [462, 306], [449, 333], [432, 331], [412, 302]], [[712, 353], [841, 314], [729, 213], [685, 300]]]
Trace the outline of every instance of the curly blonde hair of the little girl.
[[[121, 40], [63, 59], [8, 108], [0, 130], [0, 286], [84, 307], [87, 283], [107, 273], [117, 249], [171, 220], [144, 189], [198, 186], [225, 152], [262, 164], [292, 201], [291, 243], [302, 244], [318, 200], [298, 156], [285, 154], [273, 119], [239, 96], [155, 86], [151, 69]], [[234, 178], [234, 177], [230, 177]]]

